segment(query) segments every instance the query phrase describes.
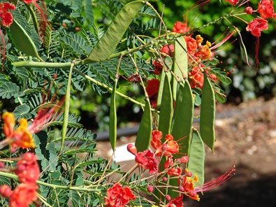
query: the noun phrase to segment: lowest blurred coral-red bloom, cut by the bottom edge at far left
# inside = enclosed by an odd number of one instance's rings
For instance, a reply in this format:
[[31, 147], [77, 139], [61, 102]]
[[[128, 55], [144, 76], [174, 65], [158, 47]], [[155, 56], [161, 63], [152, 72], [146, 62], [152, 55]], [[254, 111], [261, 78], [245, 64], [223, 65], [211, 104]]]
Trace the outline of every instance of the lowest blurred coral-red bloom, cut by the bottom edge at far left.
[[29, 207], [36, 200], [37, 185], [21, 183], [10, 195], [10, 207]]

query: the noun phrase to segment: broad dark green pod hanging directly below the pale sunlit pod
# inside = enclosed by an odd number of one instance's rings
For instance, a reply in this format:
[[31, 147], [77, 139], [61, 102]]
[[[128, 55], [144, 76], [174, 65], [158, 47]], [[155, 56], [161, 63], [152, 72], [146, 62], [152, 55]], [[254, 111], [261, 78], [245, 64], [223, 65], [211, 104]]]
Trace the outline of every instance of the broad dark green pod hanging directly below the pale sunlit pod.
[[[173, 113], [172, 135], [175, 140], [179, 140], [181, 145], [180, 153], [189, 155], [191, 141], [191, 127], [194, 116], [194, 99], [188, 80], [184, 86], [179, 85], [175, 111]], [[182, 155], [181, 154], [181, 155]]]

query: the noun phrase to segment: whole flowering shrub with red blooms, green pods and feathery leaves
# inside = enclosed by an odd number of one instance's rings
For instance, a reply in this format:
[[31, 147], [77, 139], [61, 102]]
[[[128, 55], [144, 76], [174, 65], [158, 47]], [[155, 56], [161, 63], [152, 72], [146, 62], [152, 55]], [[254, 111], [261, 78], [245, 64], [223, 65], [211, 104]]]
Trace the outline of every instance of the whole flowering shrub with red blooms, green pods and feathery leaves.
[[[172, 207], [183, 206], [183, 199], [199, 201], [200, 192], [235, 173], [231, 166], [204, 182], [205, 145], [215, 150], [215, 104], [226, 101], [221, 83], [231, 83], [218, 68], [217, 48], [236, 34], [242, 42], [230, 17], [252, 15], [243, 29], [256, 37], [258, 66], [259, 38], [275, 17], [273, 1], [260, 1], [256, 10], [246, 0], [228, 1], [231, 13], [200, 28], [175, 22], [171, 31], [147, 1], [109, 1], [105, 13], [112, 22], [104, 32], [94, 24], [89, 3], [0, 3], [0, 97], [16, 105], [1, 115], [3, 206]], [[103, 8], [101, 3], [96, 6]], [[205, 41], [201, 29], [220, 20], [230, 22], [232, 31], [226, 29], [219, 42]], [[242, 50], [248, 63], [244, 45]], [[124, 81], [139, 85], [144, 100], [124, 94]], [[96, 134], [71, 113], [71, 100], [85, 90], [111, 93], [112, 150], [117, 97], [143, 108], [136, 142], [127, 146], [136, 162], [129, 171], [94, 156]], [[196, 106], [201, 106], [199, 129], [193, 126]]]

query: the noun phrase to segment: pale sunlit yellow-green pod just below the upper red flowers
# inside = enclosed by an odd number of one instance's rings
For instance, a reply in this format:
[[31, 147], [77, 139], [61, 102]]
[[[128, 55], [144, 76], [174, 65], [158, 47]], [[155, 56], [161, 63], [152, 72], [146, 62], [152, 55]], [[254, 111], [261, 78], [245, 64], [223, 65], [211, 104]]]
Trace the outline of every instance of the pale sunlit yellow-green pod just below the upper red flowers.
[[[175, 59], [173, 62], [173, 73], [178, 78], [182, 79], [188, 77], [188, 56], [187, 56], [187, 44], [183, 36], [175, 39]], [[177, 96], [177, 80], [173, 78], [173, 100], [176, 100]]]

